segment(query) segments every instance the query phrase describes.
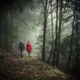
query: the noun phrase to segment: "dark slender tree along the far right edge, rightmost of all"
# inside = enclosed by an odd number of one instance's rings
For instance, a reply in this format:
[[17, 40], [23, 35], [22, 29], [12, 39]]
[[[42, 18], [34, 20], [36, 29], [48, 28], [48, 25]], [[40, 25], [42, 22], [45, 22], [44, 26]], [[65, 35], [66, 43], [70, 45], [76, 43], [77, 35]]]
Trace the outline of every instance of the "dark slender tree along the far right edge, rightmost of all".
[[76, 47], [76, 69], [77, 69], [77, 72], [79, 70], [79, 25], [80, 25], [80, 22], [79, 22], [79, 4], [80, 1], [79, 0], [75, 0], [75, 47]]

